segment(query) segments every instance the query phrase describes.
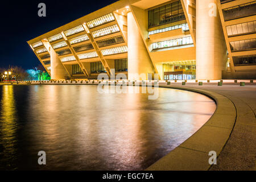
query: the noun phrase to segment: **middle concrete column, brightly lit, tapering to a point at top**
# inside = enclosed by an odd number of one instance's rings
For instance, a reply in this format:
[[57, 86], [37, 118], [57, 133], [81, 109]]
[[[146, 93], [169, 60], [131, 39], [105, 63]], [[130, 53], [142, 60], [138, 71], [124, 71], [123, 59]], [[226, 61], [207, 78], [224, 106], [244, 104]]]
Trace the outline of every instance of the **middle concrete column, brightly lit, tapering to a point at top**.
[[[155, 73], [154, 65], [148, 55], [133, 13], [127, 14], [128, 23], [128, 79], [148, 79], [148, 73]], [[144, 74], [145, 78], [138, 76]]]

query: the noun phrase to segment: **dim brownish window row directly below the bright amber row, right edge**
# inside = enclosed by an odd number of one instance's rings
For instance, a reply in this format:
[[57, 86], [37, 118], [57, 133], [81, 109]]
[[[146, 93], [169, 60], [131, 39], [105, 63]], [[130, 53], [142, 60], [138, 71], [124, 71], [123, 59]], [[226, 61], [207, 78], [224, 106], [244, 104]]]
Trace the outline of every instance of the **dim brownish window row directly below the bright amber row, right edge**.
[[232, 52], [256, 49], [256, 39], [230, 42], [230, 48]]

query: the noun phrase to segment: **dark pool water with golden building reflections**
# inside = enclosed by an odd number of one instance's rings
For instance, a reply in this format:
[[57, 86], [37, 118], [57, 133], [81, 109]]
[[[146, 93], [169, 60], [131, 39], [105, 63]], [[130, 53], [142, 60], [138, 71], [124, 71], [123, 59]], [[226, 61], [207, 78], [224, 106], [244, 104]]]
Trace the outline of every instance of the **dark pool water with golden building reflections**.
[[[130, 89], [133, 89], [131, 87]], [[145, 169], [216, 109], [208, 97], [159, 88], [100, 94], [97, 86], [0, 86], [0, 169]], [[47, 165], [38, 165], [46, 151]]]

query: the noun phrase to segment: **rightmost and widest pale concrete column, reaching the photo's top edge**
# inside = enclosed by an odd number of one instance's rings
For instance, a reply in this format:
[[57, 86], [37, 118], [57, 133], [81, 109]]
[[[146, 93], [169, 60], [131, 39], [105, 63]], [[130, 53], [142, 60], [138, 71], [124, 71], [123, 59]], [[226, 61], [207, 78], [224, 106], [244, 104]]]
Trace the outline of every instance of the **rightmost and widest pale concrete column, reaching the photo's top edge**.
[[227, 60], [217, 0], [196, 1], [196, 78], [221, 79]]

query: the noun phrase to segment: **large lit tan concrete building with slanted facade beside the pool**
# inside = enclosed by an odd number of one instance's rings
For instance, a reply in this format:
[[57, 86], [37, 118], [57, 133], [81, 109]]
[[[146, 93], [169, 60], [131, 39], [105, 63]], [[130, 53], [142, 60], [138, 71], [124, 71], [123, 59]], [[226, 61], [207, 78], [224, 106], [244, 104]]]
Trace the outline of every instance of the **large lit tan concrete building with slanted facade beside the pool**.
[[53, 80], [256, 78], [256, 1], [121, 0], [27, 43]]

